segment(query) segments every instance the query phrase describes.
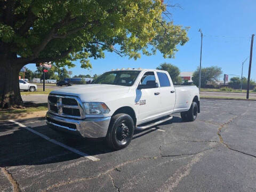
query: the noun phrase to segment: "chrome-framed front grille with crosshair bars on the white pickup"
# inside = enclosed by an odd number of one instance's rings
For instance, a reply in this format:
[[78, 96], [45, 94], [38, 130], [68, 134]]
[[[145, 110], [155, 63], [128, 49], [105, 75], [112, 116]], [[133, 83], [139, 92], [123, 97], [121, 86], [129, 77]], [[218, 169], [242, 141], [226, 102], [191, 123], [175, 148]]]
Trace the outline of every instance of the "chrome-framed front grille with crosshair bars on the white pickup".
[[70, 118], [85, 118], [83, 103], [74, 96], [54, 95], [48, 96], [48, 110], [50, 113]]

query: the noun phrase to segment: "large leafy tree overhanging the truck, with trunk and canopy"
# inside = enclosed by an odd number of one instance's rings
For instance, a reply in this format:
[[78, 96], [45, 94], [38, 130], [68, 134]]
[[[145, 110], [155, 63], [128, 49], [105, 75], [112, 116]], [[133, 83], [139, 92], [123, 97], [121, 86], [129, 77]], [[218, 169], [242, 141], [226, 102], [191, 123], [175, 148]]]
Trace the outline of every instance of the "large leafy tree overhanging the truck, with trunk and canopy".
[[105, 51], [172, 58], [188, 37], [167, 13], [161, 0], [0, 0], [0, 108], [21, 105], [18, 74], [27, 63], [79, 59], [87, 68]]

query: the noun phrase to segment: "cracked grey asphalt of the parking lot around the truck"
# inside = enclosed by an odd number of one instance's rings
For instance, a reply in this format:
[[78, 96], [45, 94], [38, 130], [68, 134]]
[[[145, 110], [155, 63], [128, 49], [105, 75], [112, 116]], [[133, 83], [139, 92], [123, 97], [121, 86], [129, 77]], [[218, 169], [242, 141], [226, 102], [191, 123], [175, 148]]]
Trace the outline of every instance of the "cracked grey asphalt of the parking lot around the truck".
[[136, 131], [119, 151], [15, 119], [99, 161], [0, 122], [0, 191], [256, 191], [256, 101], [201, 99], [201, 111]]

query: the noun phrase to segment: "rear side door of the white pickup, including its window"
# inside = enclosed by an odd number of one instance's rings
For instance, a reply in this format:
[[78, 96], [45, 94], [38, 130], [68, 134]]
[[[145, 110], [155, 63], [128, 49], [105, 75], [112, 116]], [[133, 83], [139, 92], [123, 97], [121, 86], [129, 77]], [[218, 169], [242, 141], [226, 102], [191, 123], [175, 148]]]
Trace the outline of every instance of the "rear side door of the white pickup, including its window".
[[159, 93], [161, 95], [162, 113], [171, 113], [174, 110], [176, 94], [169, 74], [157, 71]]

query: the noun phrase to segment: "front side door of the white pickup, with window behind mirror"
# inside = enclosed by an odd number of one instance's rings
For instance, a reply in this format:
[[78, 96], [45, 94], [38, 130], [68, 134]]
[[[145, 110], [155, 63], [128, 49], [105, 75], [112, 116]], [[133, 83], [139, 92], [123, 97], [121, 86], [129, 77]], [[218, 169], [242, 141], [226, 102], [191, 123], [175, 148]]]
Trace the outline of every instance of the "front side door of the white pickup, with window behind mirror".
[[[135, 105], [138, 109], [138, 121], [144, 121], [155, 117], [159, 113], [160, 95], [159, 88], [147, 88], [147, 85], [156, 83], [156, 74], [154, 71], [147, 71], [140, 79], [139, 85], [145, 85], [145, 88], [136, 90]], [[149, 85], [150, 86], [150, 85]]]

